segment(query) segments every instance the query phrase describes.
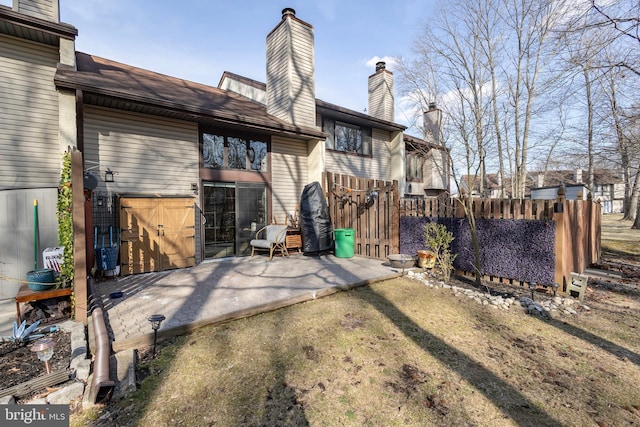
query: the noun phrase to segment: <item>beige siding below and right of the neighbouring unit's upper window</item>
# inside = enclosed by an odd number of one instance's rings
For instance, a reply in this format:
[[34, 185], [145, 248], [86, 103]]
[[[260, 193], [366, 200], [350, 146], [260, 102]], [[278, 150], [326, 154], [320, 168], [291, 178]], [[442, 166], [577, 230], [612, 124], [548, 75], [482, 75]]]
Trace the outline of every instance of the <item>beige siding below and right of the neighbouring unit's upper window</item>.
[[337, 151], [327, 151], [328, 172], [353, 175], [360, 178], [391, 180], [391, 135], [387, 131], [373, 129], [371, 157]]

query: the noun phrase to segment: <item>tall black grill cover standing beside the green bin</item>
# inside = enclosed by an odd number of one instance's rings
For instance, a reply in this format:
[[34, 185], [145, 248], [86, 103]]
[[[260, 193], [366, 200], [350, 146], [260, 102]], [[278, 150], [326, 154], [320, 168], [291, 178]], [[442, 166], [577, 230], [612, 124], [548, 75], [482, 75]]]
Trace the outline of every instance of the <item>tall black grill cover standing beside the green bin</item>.
[[319, 182], [306, 185], [302, 191], [300, 233], [305, 254], [333, 250], [333, 224]]

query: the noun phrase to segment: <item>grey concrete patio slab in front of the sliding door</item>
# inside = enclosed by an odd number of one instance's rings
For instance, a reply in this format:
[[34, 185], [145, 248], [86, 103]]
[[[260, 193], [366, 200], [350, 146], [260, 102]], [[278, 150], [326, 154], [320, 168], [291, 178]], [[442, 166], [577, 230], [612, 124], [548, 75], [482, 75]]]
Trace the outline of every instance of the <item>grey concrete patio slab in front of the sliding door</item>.
[[[113, 350], [151, 342], [152, 314], [162, 314], [159, 337], [241, 318], [341, 289], [398, 277], [388, 263], [363, 257], [267, 256], [225, 258], [196, 267], [137, 274], [96, 283]], [[110, 294], [122, 292], [121, 298]]]

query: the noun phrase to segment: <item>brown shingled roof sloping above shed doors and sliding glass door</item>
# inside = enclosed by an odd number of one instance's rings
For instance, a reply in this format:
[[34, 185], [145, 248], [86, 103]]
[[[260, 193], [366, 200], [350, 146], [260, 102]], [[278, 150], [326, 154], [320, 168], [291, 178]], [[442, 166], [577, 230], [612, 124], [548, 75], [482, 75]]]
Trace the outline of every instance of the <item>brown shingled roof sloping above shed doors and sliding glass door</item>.
[[76, 62], [77, 70], [59, 66], [54, 81], [58, 87], [85, 92], [84, 102], [88, 104], [299, 139], [326, 137], [317, 129], [294, 126], [271, 116], [264, 106], [231, 91], [82, 52], [76, 52]]

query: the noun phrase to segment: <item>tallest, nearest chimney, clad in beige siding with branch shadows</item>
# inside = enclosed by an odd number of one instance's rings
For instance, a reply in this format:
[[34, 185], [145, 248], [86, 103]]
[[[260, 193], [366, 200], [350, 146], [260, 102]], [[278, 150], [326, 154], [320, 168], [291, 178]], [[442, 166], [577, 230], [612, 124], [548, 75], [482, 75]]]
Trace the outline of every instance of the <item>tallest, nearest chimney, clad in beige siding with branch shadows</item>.
[[291, 8], [267, 35], [267, 112], [288, 123], [315, 127], [313, 26]]

